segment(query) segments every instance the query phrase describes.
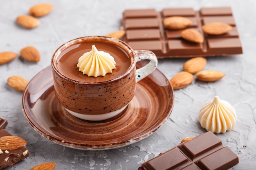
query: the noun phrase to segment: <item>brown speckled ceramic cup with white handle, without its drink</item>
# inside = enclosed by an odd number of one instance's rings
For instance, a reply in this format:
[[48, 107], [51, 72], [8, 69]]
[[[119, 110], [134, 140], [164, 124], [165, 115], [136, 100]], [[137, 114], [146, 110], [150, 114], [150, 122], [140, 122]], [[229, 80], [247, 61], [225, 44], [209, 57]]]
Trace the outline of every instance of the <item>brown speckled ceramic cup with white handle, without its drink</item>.
[[[58, 69], [59, 54], [77, 42], [108, 42], [119, 46], [130, 58], [128, 70], [114, 79], [103, 82], [81, 82], [67, 77]], [[150, 62], [136, 70], [140, 60]], [[71, 40], [56, 50], [52, 57], [56, 99], [72, 115], [85, 120], [99, 121], [121, 113], [135, 95], [136, 82], [152, 73], [157, 66], [157, 57], [150, 51], [133, 51], [126, 43], [102, 36], [88, 36]], [[67, 68], [68, 69], [68, 68]]]

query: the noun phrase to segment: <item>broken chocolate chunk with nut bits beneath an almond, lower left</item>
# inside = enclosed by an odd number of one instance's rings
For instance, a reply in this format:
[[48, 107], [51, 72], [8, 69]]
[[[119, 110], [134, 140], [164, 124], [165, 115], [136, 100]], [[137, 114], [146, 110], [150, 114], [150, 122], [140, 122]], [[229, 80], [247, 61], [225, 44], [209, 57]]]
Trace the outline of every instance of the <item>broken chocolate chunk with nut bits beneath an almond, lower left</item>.
[[[0, 137], [3, 136], [11, 136], [11, 134], [6, 130], [1, 129]], [[0, 170], [6, 168], [7, 166], [13, 166], [14, 163], [22, 161], [27, 157], [29, 157], [29, 152], [27, 151], [26, 146], [15, 150], [2, 150], [2, 153], [0, 154]]]

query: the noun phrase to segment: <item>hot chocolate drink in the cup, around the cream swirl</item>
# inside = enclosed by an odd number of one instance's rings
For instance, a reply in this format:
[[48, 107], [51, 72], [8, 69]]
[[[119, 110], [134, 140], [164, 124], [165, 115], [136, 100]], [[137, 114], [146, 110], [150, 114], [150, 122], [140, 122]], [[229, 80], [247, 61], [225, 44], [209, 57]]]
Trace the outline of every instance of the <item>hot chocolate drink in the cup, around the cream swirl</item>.
[[[116, 68], [112, 70], [112, 73], [108, 73], [105, 76], [88, 76], [83, 75], [79, 68], [76, 66], [79, 57], [84, 53], [92, 50], [92, 45], [95, 45], [98, 51], [104, 51], [109, 53], [115, 58]], [[130, 57], [119, 46], [115, 46], [108, 42], [78, 42], [63, 50], [57, 62], [57, 67], [63, 75], [70, 79], [74, 79], [80, 82], [105, 82], [111, 79], [115, 79], [120, 75], [123, 75], [128, 70], [131, 64]]]

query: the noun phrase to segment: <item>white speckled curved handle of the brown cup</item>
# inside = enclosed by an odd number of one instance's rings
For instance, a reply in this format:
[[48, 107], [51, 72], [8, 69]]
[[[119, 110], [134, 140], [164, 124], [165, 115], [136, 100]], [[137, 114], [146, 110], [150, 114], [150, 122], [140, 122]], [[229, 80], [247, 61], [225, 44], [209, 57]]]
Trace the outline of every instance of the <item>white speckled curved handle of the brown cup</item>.
[[157, 56], [148, 50], [135, 50], [135, 60], [139, 62], [141, 60], [150, 60], [150, 62], [139, 69], [136, 70], [136, 83], [146, 76], [150, 75], [155, 68], [157, 68]]

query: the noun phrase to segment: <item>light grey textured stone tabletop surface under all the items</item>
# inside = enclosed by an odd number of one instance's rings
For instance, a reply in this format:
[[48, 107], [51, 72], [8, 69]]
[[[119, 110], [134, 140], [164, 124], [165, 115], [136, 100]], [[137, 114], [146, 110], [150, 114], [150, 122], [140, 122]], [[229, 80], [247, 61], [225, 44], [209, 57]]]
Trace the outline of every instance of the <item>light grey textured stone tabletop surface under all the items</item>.
[[[39, 2], [54, 4], [49, 15], [40, 18], [36, 29], [28, 30], [16, 24], [18, 15], [28, 13]], [[54, 51], [68, 40], [86, 35], [106, 35], [120, 27], [125, 9], [167, 7], [225, 7], [231, 6], [243, 54], [207, 57], [205, 69], [222, 71], [227, 75], [218, 82], [194, 82], [175, 91], [175, 105], [168, 121], [150, 137], [136, 144], [112, 150], [85, 151], [54, 144], [32, 129], [22, 113], [22, 93], [7, 85], [7, 78], [21, 75], [30, 80], [50, 65]], [[19, 53], [25, 46], [35, 46], [41, 54], [38, 63], [16, 58], [0, 65], [0, 117], [8, 119], [11, 134], [27, 140], [29, 158], [7, 170], [27, 170], [39, 163], [55, 162], [56, 170], [137, 170], [141, 163], [180, 143], [184, 137], [204, 132], [198, 122], [198, 112], [215, 95], [236, 109], [236, 126], [217, 136], [239, 157], [234, 170], [254, 170], [256, 166], [256, 1], [255, 0], [1, 0], [0, 51]], [[182, 71], [187, 59], [159, 60], [157, 68], [168, 79]], [[164, 106], [163, 106], [164, 107]]]

